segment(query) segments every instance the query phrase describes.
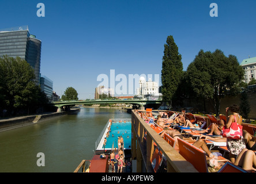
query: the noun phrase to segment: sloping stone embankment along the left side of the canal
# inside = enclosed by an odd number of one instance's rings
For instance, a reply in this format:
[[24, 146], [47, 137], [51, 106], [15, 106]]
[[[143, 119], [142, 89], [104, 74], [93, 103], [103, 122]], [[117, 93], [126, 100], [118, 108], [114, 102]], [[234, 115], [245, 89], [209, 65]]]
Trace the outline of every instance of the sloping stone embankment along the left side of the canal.
[[80, 111], [80, 108], [70, 109], [70, 111], [68, 112], [54, 112], [54, 113], [50, 112], [50, 113], [43, 113], [43, 114], [37, 114], [37, 115], [31, 115], [31, 116], [5, 118], [0, 120], [0, 132], [37, 124], [43, 121], [57, 118], [59, 116], [77, 113], [78, 111]]

